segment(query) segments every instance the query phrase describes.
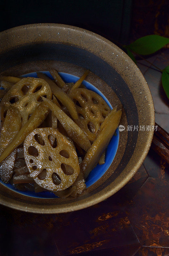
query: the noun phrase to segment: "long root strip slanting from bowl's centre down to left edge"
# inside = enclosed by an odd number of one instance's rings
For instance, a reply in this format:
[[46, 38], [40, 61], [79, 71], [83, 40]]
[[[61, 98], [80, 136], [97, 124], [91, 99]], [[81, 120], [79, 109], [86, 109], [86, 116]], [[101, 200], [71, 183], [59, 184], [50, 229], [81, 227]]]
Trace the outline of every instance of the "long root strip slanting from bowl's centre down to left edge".
[[11, 152], [17, 148], [21, 143], [24, 142], [26, 136], [37, 128], [49, 113], [49, 109], [45, 102], [41, 102], [34, 110], [32, 116], [29, 118], [27, 123], [20, 129], [10, 144], [5, 148], [0, 156], [0, 163], [11, 154]]

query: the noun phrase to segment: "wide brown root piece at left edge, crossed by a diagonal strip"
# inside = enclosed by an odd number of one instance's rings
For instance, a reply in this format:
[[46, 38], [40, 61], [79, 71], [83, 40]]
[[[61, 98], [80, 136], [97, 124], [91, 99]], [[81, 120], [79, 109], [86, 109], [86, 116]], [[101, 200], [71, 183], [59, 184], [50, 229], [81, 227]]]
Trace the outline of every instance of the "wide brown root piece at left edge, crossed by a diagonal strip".
[[[0, 154], [7, 150], [8, 145], [16, 136], [21, 128], [21, 115], [17, 108], [11, 107], [8, 109], [5, 121], [1, 130], [0, 139]], [[12, 149], [7, 155], [8, 157], [0, 164], [0, 177], [4, 183], [8, 183], [13, 173], [16, 150]]]

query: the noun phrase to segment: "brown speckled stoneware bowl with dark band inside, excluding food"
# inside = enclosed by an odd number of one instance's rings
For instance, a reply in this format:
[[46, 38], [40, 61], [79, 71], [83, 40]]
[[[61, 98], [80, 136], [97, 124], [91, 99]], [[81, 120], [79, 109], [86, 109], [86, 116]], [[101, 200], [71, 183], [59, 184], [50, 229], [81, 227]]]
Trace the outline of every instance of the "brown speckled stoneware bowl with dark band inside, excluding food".
[[[95, 85], [111, 105], [122, 108], [119, 145], [105, 174], [77, 198], [25, 196], [0, 184], [0, 202], [36, 213], [76, 211], [97, 204], [122, 188], [137, 172], [151, 145], [154, 105], [149, 87], [135, 63], [115, 44], [90, 31], [61, 24], [25, 25], [0, 33], [0, 75], [20, 76], [56, 68]], [[130, 131], [127, 126], [133, 126]]]

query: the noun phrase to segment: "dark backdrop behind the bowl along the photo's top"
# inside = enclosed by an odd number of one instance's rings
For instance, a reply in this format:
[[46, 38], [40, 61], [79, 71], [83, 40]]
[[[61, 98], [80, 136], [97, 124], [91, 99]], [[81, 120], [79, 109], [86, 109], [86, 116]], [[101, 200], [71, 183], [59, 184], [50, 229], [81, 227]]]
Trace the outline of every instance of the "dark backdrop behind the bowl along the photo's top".
[[168, 11], [167, 0], [1, 0], [0, 31], [31, 23], [62, 23], [127, 44], [149, 34], [167, 36]]

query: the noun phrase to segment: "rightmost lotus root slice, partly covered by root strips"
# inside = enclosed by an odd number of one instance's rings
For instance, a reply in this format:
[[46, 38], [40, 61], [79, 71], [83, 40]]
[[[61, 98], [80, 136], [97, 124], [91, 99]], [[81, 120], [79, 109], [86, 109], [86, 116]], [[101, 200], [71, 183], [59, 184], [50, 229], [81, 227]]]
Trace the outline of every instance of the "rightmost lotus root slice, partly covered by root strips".
[[78, 113], [78, 119], [74, 122], [87, 134], [89, 140], [95, 140], [100, 125], [111, 109], [100, 95], [88, 89], [72, 90], [69, 97], [74, 101]]

